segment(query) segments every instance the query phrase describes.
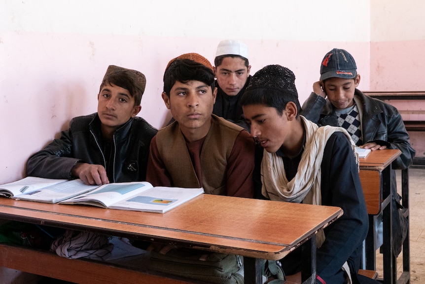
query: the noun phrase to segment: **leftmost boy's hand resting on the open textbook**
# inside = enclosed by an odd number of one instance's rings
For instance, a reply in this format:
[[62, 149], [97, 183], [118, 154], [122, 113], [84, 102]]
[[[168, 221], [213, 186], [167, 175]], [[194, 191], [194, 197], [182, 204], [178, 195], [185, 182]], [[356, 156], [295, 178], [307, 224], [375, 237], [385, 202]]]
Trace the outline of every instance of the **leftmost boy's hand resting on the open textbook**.
[[100, 164], [77, 162], [71, 169], [73, 176], [79, 177], [85, 184], [102, 185], [109, 183], [105, 168]]

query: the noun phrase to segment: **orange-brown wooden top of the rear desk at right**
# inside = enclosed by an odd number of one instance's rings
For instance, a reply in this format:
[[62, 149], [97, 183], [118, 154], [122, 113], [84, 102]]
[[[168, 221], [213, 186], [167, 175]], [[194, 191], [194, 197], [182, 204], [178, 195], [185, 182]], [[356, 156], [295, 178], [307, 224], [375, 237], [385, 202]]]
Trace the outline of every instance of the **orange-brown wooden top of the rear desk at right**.
[[384, 170], [391, 162], [401, 155], [398, 149], [371, 151], [366, 158], [360, 158], [360, 169]]

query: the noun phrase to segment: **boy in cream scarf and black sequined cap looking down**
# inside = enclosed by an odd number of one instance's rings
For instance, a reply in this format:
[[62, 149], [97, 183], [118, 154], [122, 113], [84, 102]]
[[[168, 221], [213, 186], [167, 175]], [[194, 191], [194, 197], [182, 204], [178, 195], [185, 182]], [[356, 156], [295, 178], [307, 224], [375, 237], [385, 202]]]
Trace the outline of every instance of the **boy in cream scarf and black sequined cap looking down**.
[[[358, 161], [347, 131], [318, 127], [300, 116], [295, 76], [279, 65], [266, 66], [252, 77], [241, 104], [250, 134], [261, 145], [255, 182], [262, 195], [344, 210], [344, 215], [318, 236], [317, 283], [368, 283], [360, 282], [357, 275], [368, 217]], [[287, 280], [295, 283], [301, 283], [302, 251], [301, 246], [282, 260]]]

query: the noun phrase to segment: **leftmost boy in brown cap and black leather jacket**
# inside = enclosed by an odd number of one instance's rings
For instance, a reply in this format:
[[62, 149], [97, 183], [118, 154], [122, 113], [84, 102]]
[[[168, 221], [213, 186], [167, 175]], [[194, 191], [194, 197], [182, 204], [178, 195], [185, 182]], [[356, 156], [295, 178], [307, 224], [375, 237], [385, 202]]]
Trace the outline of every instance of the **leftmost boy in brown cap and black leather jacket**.
[[60, 139], [29, 158], [27, 175], [98, 185], [145, 180], [149, 144], [157, 132], [136, 117], [145, 85], [139, 71], [110, 65], [97, 113], [73, 118]]

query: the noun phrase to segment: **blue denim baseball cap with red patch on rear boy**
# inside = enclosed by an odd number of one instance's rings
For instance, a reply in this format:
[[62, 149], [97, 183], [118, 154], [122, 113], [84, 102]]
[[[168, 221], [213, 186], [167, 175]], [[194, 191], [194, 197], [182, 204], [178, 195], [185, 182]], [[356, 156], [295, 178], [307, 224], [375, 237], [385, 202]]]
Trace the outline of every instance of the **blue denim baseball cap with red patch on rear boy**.
[[320, 64], [320, 80], [337, 77], [353, 79], [357, 66], [353, 56], [344, 49], [334, 48], [323, 57]]

